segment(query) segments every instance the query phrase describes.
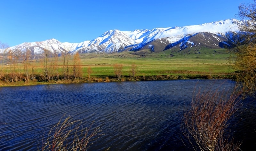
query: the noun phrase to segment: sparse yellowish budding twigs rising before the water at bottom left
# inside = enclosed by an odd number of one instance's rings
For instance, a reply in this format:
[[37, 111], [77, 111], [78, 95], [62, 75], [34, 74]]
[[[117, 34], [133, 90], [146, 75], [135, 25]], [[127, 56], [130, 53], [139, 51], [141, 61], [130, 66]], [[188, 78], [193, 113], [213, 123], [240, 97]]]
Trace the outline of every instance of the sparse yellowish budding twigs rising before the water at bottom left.
[[[100, 137], [99, 128], [83, 128], [81, 121], [72, 120], [70, 116], [60, 119], [49, 131], [46, 140], [43, 138], [41, 151], [85, 151], [93, 140]], [[81, 127], [82, 126], [82, 127]]]

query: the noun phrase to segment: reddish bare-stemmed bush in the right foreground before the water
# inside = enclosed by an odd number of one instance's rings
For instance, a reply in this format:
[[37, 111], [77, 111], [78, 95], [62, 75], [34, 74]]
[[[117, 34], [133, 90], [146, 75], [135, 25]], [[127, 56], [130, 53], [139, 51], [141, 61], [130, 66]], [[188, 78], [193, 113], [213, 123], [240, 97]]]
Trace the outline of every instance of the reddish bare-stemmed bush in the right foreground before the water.
[[[237, 88], [237, 87], [236, 87]], [[239, 91], [205, 90], [194, 95], [191, 107], [184, 111], [181, 130], [194, 150], [239, 150], [241, 143], [232, 142], [228, 120], [240, 107]]]

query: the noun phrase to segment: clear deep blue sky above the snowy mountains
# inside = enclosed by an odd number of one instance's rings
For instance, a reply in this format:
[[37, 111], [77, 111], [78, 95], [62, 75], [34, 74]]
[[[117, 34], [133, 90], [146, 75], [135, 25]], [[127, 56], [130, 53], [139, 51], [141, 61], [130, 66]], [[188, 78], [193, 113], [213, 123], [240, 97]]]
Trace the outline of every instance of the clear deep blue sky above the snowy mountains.
[[[80, 43], [111, 29], [183, 27], [236, 18], [252, 0], [1, 0], [0, 41]], [[239, 19], [239, 18], [236, 18]]]

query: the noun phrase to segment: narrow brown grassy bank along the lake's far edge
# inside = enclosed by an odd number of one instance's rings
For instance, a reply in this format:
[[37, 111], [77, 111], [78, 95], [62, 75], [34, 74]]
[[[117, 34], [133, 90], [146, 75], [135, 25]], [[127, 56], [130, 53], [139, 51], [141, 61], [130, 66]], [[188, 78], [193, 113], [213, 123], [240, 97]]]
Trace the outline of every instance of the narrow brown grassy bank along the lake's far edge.
[[[38, 76], [40, 77], [40, 76]], [[5, 86], [29, 86], [29, 85], [42, 85], [42, 84], [69, 84], [69, 83], [96, 83], [96, 82], [124, 82], [124, 81], [154, 81], [154, 80], [182, 80], [182, 79], [230, 79], [234, 80], [234, 74], [218, 74], [218, 75], [155, 75], [155, 76], [121, 76], [116, 78], [114, 76], [95, 76], [88, 79], [87, 77], [68, 79], [68, 80], [50, 80], [42, 81], [42, 79], [33, 79], [29, 81], [5, 82], [0, 80], [0, 87]]]

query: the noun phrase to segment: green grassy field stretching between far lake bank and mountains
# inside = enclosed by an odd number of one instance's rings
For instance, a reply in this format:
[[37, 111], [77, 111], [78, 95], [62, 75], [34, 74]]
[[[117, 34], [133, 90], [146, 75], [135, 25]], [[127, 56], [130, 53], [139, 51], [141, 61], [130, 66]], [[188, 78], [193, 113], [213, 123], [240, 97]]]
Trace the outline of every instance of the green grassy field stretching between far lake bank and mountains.
[[[142, 50], [138, 52], [121, 53], [86, 53], [80, 54], [83, 77], [87, 77], [87, 69], [92, 69], [91, 77], [94, 82], [104, 81], [106, 77], [116, 81], [114, 66], [122, 65], [122, 79], [126, 80], [161, 80], [183, 78], [225, 78], [233, 72], [229, 64], [229, 54], [225, 49], [204, 50], [202, 52], [182, 53], [167, 50], [164, 52], [150, 52]], [[49, 59], [51, 60], [51, 59]], [[69, 60], [72, 68], [73, 56]], [[30, 60], [29, 65], [34, 67], [34, 74], [43, 74], [43, 61]], [[63, 65], [63, 58], [58, 58], [59, 73]], [[132, 65], [135, 65], [135, 77], [131, 78]], [[19, 63], [22, 68], [22, 62]], [[4, 66], [5, 73], [9, 65]], [[10, 70], [10, 68], [9, 68]], [[210, 75], [210, 76], [209, 76]], [[157, 78], [156, 78], [157, 76]], [[162, 77], [164, 76], [164, 77]], [[129, 78], [130, 77], [130, 78]], [[147, 78], [146, 78], [147, 77]], [[160, 78], [159, 78], [160, 77]], [[97, 80], [101, 78], [102, 80]], [[120, 80], [118, 78], [118, 80]], [[117, 80], [117, 81], [118, 81]], [[88, 81], [83, 79], [82, 82]], [[80, 81], [81, 82], [81, 81]], [[2, 82], [3, 83], [3, 82]], [[69, 83], [69, 82], [63, 82]], [[3, 84], [6, 85], [6, 84]], [[7, 84], [10, 85], [10, 84]], [[21, 84], [22, 85], [22, 82]], [[29, 83], [28, 83], [29, 85]]]

